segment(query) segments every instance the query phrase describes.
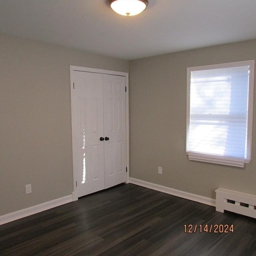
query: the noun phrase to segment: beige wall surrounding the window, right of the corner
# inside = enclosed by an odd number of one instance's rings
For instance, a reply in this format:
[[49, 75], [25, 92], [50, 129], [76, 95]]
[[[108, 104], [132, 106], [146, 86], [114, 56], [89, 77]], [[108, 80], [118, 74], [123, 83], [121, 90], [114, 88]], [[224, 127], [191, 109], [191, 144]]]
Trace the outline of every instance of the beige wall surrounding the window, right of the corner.
[[[189, 161], [185, 152], [186, 68], [255, 58], [250, 40], [130, 61], [130, 176], [209, 198], [219, 187], [256, 194], [256, 118], [244, 168]], [[254, 117], [255, 100], [256, 86]]]

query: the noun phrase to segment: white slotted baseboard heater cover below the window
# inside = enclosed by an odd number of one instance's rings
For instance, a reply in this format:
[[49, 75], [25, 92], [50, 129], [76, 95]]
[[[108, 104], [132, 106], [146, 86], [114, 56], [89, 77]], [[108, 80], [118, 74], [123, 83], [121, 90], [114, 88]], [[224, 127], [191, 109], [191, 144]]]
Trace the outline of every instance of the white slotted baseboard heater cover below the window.
[[224, 188], [218, 188], [215, 192], [216, 211], [227, 210], [256, 218], [256, 196]]

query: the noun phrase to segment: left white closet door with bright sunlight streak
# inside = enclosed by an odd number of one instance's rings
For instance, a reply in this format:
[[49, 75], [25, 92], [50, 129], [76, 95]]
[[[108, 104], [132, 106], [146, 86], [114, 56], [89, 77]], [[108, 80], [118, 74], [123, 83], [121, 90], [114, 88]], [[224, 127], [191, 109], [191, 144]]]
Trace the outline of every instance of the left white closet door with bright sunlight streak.
[[74, 71], [73, 163], [78, 197], [104, 189], [102, 74]]

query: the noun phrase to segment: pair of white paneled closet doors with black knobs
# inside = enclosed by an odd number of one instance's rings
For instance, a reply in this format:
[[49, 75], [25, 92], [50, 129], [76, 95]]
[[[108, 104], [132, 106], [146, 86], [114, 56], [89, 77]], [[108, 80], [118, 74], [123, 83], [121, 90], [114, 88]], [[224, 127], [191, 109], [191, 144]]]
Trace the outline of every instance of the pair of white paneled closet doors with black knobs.
[[73, 71], [72, 138], [78, 197], [126, 182], [125, 77]]

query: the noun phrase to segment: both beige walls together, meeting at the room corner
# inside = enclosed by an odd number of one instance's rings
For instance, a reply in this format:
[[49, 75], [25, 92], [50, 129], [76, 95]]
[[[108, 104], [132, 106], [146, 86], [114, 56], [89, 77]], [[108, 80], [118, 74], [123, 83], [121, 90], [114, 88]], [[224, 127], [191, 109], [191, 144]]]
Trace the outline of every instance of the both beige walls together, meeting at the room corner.
[[[192, 162], [185, 152], [186, 67], [255, 59], [255, 40], [133, 60], [129, 67], [53, 44], [0, 40], [0, 215], [73, 190], [69, 65], [129, 70], [131, 177], [210, 198], [218, 187], [256, 194], [256, 118], [252, 161], [243, 169]], [[255, 95], [256, 88], [254, 102]]]

